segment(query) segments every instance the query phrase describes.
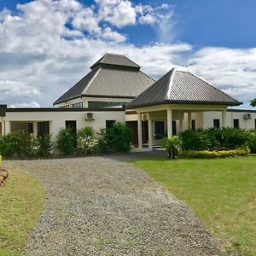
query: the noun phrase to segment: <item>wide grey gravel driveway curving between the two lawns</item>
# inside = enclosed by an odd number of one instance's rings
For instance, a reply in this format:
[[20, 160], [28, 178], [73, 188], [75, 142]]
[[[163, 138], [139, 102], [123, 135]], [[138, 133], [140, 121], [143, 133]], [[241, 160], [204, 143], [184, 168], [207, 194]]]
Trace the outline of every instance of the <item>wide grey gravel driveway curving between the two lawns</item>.
[[46, 189], [24, 255], [218, 255], [195, 214], [131, 158], [6, 161]]

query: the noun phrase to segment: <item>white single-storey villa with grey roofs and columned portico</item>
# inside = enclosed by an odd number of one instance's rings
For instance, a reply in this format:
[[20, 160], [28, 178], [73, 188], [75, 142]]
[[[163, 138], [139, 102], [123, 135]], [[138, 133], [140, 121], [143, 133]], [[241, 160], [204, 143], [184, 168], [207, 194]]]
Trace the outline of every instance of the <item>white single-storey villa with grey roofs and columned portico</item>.
[[256, 111], [232, 109], [242, 102], [188, 71], [172, 68], [155, 81], [125, 55], [113, 54], [90, 69], [53, 108], [0, 105], [0, 135], [24, 130], [31, 136], [52, 134], [55, 140], [67, 125], [100, 131], [118, 121], [131, 126], [134, 145], [152, 149], [165, 134], [172, 137], [188, 128], [256, 129]]

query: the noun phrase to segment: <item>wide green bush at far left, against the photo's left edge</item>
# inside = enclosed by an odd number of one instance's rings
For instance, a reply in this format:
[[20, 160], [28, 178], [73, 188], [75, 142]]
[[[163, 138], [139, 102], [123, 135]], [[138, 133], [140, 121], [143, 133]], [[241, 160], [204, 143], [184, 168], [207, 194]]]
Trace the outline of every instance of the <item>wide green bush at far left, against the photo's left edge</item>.
[[32, 137], [25, 131], [14, 131], [0, 137], [0, 153], [4, 157], [28, 157], [33, 154]]

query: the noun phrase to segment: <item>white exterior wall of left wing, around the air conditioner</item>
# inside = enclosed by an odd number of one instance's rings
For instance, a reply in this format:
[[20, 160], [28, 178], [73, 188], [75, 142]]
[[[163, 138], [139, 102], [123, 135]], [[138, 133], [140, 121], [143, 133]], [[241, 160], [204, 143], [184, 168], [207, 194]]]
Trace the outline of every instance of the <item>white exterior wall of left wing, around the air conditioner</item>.
[[67, 120], [76, 120], [77, 129], [85, 126], [92, 126], [98, 132], [106, 127], [106, 120], [116, 120], [125, 122], [125, 111], [97, 111], [93, 113], [93, 120], [85, 120], [84, 111], [78, 112], [7, 112], [3, 118], [3, 123], [10, 122], [43, 122], [49, 121], [49, 132], [53, 135], [53, 140], [61, 128], [65, 127]]

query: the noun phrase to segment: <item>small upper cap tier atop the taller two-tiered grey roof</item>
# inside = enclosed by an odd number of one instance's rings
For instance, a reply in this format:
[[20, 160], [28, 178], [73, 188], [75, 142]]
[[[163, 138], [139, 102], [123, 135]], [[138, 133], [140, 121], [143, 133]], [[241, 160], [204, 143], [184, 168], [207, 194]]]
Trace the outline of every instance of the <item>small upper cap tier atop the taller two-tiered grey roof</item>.
[[121, 66], [121, 67], [136, 67], [140, 68], [137, 63], [131, 61], [125, 55], [106, 54], [99, 61], [96, 61], [90, 68], [101, 65]]

